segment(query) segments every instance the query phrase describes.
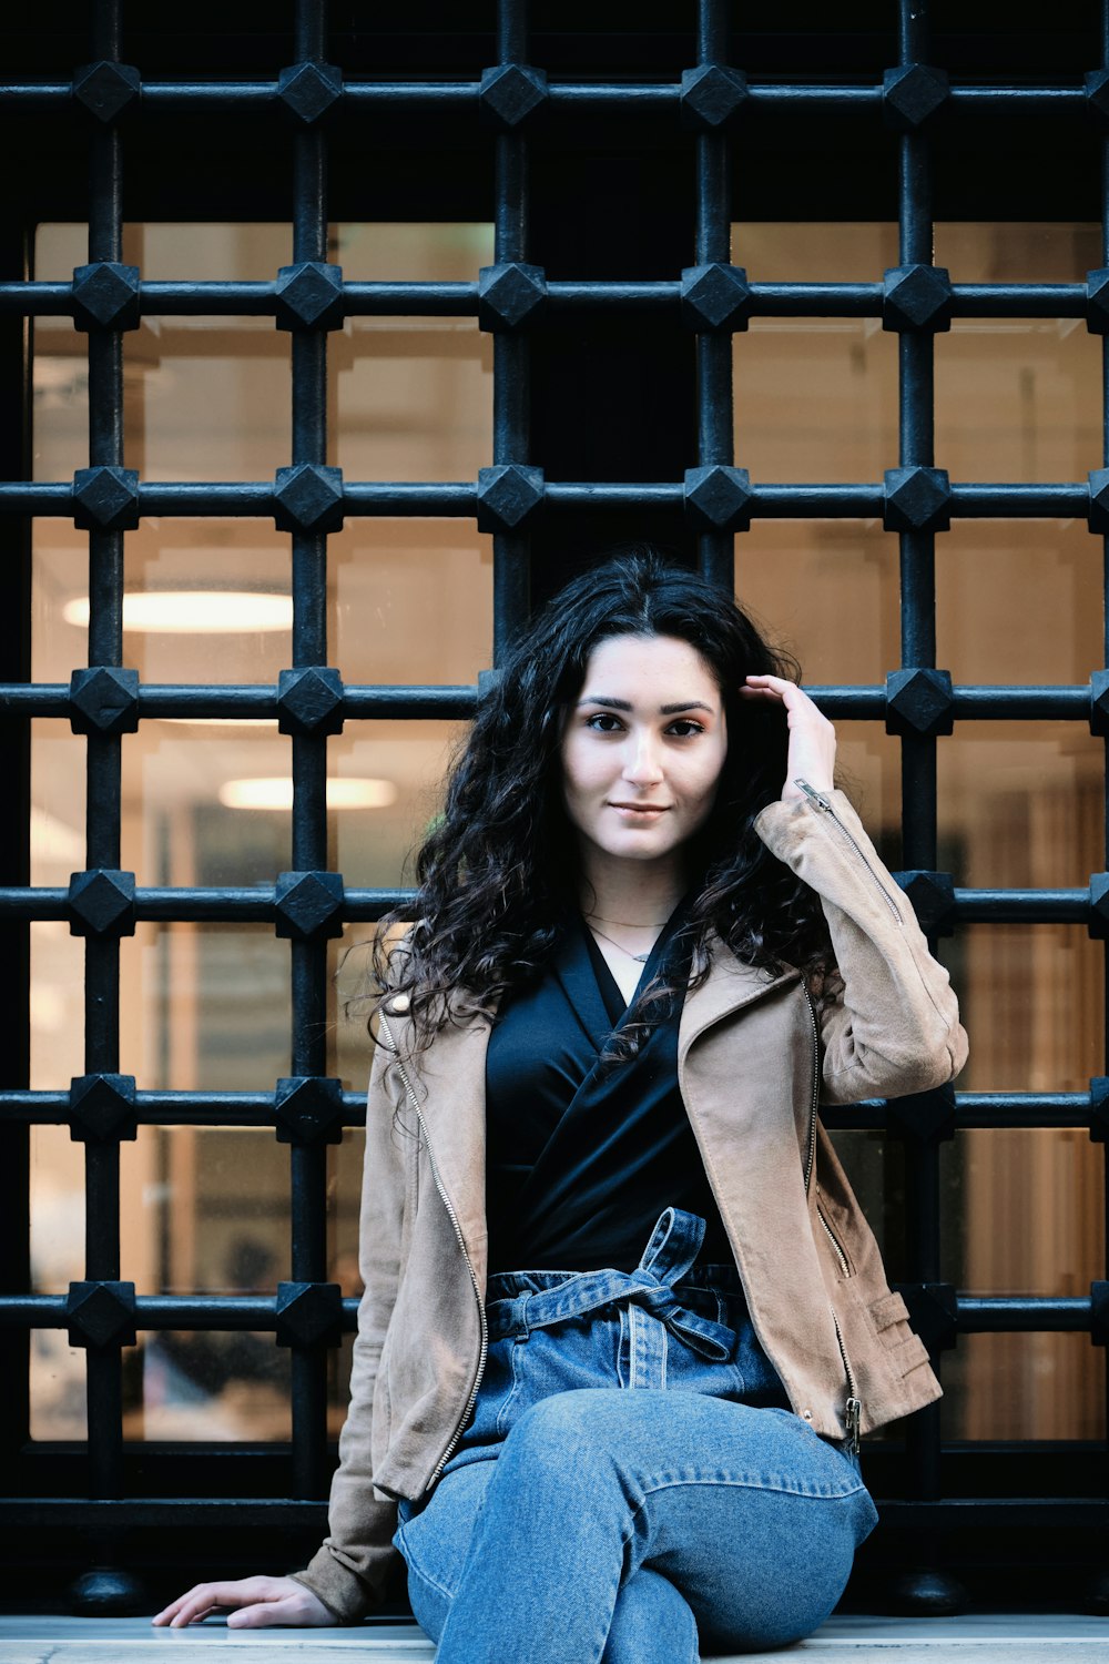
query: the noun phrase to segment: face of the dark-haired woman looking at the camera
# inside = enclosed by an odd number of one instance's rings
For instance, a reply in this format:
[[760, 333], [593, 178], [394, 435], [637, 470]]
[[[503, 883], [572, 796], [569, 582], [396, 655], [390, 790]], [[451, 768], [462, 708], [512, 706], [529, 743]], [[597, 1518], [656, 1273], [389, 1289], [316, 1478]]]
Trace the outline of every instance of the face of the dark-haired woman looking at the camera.
[[673, 636], [602, 641], [562, 730], [584, 857], [675, 855], [708, 819], [727, 749], [720, 689], [695, 647]]

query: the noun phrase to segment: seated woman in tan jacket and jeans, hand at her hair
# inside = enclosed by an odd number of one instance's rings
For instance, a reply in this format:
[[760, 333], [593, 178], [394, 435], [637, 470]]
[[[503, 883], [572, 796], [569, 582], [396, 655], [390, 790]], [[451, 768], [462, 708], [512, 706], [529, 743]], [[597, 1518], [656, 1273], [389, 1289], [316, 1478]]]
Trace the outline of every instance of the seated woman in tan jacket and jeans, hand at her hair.
[[155, 1622], [352, 1621], [396, 1551], [441, 1664], [673, 1664], [838, 1601], [860, 1433], [939, 1384], [816, 1102], [966, 1040], [781, 671], [652, 551], [519, 642], [379, 965], [331, 1534]]

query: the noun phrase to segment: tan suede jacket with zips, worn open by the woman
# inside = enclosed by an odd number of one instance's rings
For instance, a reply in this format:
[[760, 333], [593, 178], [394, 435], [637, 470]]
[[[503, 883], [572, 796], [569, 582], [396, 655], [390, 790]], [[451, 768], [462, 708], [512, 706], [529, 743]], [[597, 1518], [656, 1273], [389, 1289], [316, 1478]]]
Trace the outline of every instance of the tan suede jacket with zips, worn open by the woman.
[[[843, 993], [717, 945], [687, 995], [678, 1080], [755, 1331], [790, 1403], [843, 1439], [939, 1396], [816, 1105], [924, 1092], [966, 1060], [948, 973], [843, 792], [770, 804], [758, 835], [820, 895]], [[404, 997], [386, 1002], [369, 1082], [351, 1408], [329, 1536], [301, 1582], [339, 1621], [374, 1604], [396, 1498], [439, 1478], [485, 1351], [485, 1045], [447, 1027], [412, 1062]], [[389, 1053], [394, 1047], [394, 1055]]]

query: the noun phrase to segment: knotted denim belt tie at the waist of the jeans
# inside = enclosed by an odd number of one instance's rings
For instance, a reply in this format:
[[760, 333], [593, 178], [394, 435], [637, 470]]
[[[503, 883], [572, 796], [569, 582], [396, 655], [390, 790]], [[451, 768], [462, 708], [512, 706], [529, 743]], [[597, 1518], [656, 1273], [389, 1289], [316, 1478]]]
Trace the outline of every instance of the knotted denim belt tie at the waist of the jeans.
[[702, 1358], [727, 1363], [737, 1348], [737, 1333], [710, 1323], [680, 1305], [673, 1285], [690, 1270], [705, 1238], [705, 1221], [695, 1213], [667, 1208], [658, 1216], [643, 1258], [633, 1271], [582, 1271], [555, 1288], [497, 1300], [489, 1308], [489, 1338], [515, 1335], [527, 1340], [532, 1330], [550, 1328], [610, 1305], [642, 1306], [652, 1318], [683, 1340]]

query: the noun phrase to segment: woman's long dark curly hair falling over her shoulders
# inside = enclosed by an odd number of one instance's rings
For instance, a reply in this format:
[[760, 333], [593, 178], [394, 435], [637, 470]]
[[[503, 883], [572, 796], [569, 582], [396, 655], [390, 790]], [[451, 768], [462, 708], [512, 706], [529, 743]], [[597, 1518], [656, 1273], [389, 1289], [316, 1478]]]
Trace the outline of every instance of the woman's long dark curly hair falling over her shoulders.
[[[738, 697], [748, 674], [800, 681], [800, 669], [722, 589], [640, 544], [575, 577], [532, 619], [452, 762], [442, 815], [416, 857], [416, 899], [382, 920], [374, 948], [379, 988], [409, 995], [417, 1047], [444, 1022], [495, 1020], [500, 1000], [540, 975], [579, 909], [560, 740], [589, 657], [612, 636], [673, 636], [695, 647], [720, 687], [728, 734], [713, 809], [690, 847], [692, 907], [614, 1057], [635, 1052], [703, 982], [715, 942], [771, 972], [798, 967], [820, 980], [828, 968], [816, 895], [753, 825], [785, 782], [785, 711]], [[389, 927], [402, 917], [416, 925], [397, 947]], [[678, 957], [690, 973], [675, 987], [667, 963]]]

